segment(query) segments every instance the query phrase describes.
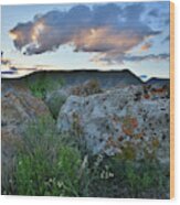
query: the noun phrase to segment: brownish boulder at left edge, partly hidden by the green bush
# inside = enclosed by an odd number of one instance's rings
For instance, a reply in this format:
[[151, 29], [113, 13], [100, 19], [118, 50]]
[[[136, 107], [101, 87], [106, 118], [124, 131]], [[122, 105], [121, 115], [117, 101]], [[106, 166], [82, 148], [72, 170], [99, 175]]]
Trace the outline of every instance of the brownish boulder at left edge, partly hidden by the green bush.
[[50, 112], [44, 102], [33, 97], [29, 89], [10, 83], [3, 83], [1, 87], [1, 162], [2, 184], [6, 184], [9, 183], [7, 181], [25, 125]]

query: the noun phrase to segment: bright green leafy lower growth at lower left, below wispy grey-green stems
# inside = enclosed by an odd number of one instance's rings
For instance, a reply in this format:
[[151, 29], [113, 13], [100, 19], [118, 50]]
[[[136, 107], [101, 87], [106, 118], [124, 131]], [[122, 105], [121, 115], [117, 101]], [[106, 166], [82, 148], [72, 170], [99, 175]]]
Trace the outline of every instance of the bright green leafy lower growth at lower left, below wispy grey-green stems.
[[52, 162], [40, 149], [32, 155], [19, 155], [17, 187], [19, 195], [78, 196], [77, 150], [61, 148]]

